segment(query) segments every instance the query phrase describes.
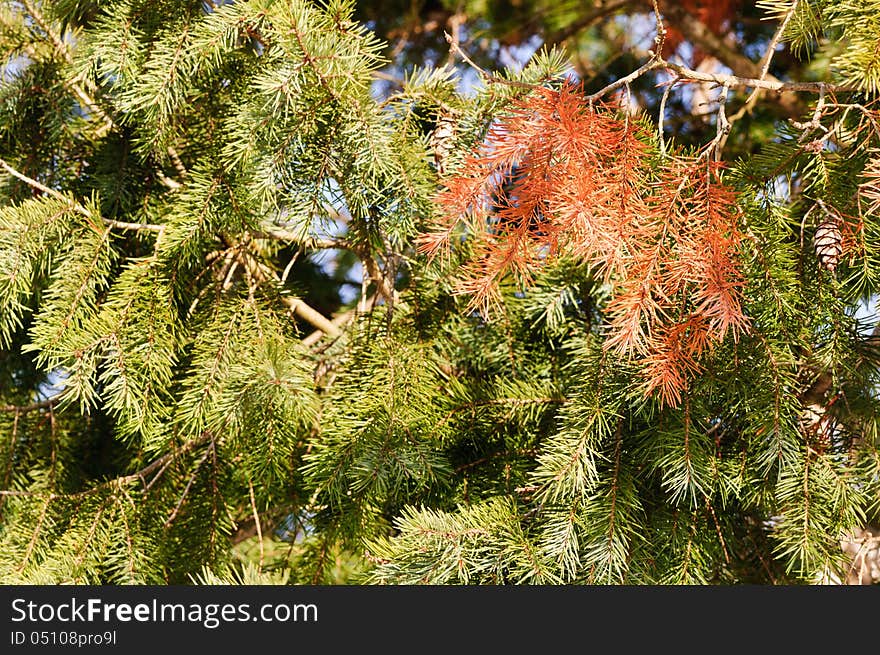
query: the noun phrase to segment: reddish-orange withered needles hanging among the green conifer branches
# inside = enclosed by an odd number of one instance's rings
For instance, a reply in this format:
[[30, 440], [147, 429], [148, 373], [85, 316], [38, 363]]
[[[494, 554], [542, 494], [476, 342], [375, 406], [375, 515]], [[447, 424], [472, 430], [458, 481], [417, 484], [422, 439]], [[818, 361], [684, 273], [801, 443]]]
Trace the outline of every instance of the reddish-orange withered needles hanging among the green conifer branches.
[[539, 89], [444, 180], [422, 253], [472, 256], [456, 280], [491, 318], [507, 276], [528, 286], [565, 254], [611, 285], [605, 347], [638, 358], [646, 394], [677, 405], [700, 356], [747, 328], [734, 192], [707, 156], [659, 156], [637, 121], [573, 85]]

